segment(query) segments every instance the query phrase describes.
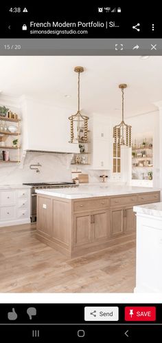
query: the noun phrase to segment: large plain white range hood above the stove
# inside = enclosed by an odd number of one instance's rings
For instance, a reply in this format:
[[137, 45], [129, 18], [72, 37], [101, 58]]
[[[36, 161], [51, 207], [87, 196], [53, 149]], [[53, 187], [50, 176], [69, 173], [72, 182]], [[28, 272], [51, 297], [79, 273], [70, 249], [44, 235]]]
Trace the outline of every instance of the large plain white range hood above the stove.
[[79, 152], [69, 143], [71, 111], [25, 99], [22, 103], [23, 149], [47, 152]]

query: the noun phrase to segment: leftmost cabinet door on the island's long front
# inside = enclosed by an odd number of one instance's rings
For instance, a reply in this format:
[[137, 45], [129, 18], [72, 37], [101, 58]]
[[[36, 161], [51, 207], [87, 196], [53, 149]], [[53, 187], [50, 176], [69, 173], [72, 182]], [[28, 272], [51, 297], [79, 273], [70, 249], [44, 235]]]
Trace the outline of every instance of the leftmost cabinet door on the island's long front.
[[91, 243], [91, 214], [75, 214], [73, 221], [73, 246]]

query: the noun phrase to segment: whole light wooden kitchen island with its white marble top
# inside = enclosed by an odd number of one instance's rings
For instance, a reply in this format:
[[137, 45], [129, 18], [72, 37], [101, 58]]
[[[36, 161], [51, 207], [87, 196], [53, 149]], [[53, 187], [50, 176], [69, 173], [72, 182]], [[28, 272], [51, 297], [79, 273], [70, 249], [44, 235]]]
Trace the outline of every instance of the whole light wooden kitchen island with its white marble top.
[[69, 258], [105, 249], [136, 229], [133, 206], [160, 201], [157, 189], [79, 186], [37, 190], [37, 237]]

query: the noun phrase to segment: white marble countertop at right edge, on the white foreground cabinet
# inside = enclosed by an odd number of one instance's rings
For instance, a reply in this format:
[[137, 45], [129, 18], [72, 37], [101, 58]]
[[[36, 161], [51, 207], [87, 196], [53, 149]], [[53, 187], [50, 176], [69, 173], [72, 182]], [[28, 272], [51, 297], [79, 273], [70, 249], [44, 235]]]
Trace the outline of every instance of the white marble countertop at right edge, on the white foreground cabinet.
[[148, 205], [138, 205], [133, 207], [133, 211], [139, 214], [162, 217], [162, 202], [154, 202]]

